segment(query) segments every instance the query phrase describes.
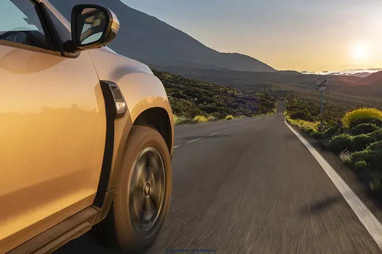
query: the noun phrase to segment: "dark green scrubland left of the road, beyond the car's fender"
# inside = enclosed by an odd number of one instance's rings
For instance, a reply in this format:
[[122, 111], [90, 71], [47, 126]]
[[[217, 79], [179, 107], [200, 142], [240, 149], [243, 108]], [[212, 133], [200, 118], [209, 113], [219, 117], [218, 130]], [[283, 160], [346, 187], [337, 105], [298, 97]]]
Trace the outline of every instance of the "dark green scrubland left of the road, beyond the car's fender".
[[176, 125], [269, 115], [276, 108], [277, 97], [269, 93], [242, 91], [152, 71], [164, 85]]

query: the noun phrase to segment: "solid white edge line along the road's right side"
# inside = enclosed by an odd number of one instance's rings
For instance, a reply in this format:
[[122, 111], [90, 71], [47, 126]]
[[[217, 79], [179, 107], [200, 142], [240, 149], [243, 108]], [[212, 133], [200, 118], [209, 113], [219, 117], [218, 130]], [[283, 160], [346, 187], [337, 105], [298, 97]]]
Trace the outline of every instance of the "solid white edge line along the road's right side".
[[334, 185], [340, 191], [342, 196], [348, 202], [358, 219], [365, 226], [371, 237], [377, 243], [378, 247], [382, 250], [382, 225], [380, 221], [374, 216], [374, 214], [366, 207], [366, 205], [357, 197], [352, 189], [345, 183], [345, 181], [337, 174], [332, 166], [321, 156], [321, 154], [302, 137], [297, 131], [295, 131], [285, 120], [285, 124], [293, 131], [293, 133], [301, 140], [301, 142], [308, 148], [310, 153], [318, 161], [326, 174], [332, 180]]

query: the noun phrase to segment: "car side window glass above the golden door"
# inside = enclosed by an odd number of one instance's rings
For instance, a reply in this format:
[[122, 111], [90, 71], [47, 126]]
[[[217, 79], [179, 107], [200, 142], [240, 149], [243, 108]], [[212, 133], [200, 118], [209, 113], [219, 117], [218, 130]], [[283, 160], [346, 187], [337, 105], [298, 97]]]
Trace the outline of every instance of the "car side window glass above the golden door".
[[35, 5], [29, 0], [0, 0], [0, 40], [50, 49]]

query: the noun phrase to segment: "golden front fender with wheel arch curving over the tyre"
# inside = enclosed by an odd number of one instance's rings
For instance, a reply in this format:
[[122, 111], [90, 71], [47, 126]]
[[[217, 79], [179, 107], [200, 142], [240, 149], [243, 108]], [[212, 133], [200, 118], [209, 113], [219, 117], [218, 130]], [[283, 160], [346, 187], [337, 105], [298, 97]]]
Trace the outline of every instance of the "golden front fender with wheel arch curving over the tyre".
[[[114, 120], [113, 126], [107, 133], [107, 139], [108, 134], [112, 134], [110, 140], [113, 141], [113, 144], [110, 144], [109, 148], [106, 147], [105, 154], [110, 154], [112, 158], [108, 160], [111, 163], [103, 165], [105, 170], [103, 168], [101, 172], [100, 183], [93, 204], [95, 208], [100, 210], [97, 217], [98, 222], [106, 217], [110, 209], [127, 137], [137, 117], [150, 108], [162, 108], [167, 112], [170, 117], [172, 134], [171, 155], [173, 153], [174, 122], [163, 84], [153, 75], [148, 66], [104, 48], [89, 50], [89, 53], [101, 83], [116, 84], [127, 106], [125, 114]], [[104, 97], [105, 91], [103, 91]], [[104, 99], [107, 100], [106, 97]], [[105, 103], [107, 102], [105, 101]], [[114, 134], [110, 131], [113, 131]]]

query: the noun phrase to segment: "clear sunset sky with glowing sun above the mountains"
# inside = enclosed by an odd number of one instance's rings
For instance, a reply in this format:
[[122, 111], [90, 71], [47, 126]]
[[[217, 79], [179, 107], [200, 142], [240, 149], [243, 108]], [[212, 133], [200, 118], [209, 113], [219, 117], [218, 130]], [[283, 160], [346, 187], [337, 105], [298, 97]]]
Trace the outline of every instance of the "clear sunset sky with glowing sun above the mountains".
[[382, 0], [122, 0], [278, 70], [382, 67]]

